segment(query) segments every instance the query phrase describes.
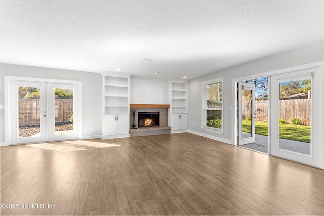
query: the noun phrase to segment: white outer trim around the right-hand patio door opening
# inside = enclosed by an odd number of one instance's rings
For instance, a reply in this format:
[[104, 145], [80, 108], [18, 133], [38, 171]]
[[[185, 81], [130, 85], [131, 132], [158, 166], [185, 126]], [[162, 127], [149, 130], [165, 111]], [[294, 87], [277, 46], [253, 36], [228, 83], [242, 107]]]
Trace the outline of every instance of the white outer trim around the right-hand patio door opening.
[[[313, 62], [313, 63], [308, 63], [308, 64], [303, 64], [303, 65], [298, 65], [298, 66], [293, 66], [289, 68], [284, 68], [284, 69], [278, 69], [278, 70], [273, 70], [273, 71], [268, 71], [264, 73], [257, 73], [254, 75], [249, 75], [249, 76], [244, 76], [244, 77], [239, 77], [232, 79], [232, 103], [230, 110], [232, 111], [232, 144], [237, 145], [237, 112], [236, 112], [236, 107], [237, 107], [237, 82], [241, 80], [248, 80], [248, 79], [254, 79], [254, 78], [260, 78], [264, 76], [269, 76], [269, 80], [271, 80], [271, 76], [276, 75], [276, 74], [282, 74], [282, 73], [288, 73], [288, 72], [294, 72], [298, 70], [304, 70], [304, 69], [309, 69], [309, 68], [316, 68], [319, 67], [322, 73], [324, 73], [323, 67], [324, 67], [324, 61], [318, 61], [318, 62]], [[322, 82], [324, 83], [324, 77], [322, 78]], [[269, 83], [271, 85], [271, 83]], [[322, 90], [322, 95], [324, 96], [324, 88]], [[269, 92], [269, 107], [271, 106], [271, 94]], [[316, 113], [319, 119], [322, 121], [323, 116], [324, 116], [324, 110], [322, 112]], [[271, 113], [269, 112], [269, 119], [271, 118]], [[322, 129], [323, 127], [323, 122], [321, 122], [318, 126]], [[269, 121], [269, 134], [271, 134], [271, 121]], [[322, 141], [324, 141], [324, 133], [322, 133]], [[271, 137], [268, 137], [268, 143], [269, 143], [269, 148], [271, 145]], [[321, 147], [321, 161], [322, 161], [322, 166], [321, 168], [324, 169], [324, 146]], [[269, 154], [271, 154], [271, 150], [269, 149]]]

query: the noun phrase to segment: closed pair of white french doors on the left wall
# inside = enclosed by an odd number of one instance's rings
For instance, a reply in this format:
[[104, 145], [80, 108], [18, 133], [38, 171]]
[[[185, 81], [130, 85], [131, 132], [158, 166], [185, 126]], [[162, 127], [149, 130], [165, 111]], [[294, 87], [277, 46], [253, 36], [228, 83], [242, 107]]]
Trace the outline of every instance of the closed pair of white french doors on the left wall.
[[10, 84], [11, 144], [78, 138], [76, 84], [23, 80]]

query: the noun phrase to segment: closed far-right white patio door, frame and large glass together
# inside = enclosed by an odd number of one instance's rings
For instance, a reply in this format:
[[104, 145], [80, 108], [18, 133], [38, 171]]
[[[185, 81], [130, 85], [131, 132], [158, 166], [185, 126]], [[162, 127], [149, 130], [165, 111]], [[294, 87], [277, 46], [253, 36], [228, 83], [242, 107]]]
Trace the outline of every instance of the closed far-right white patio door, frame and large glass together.
[[[271, 76], [271, 154], [320, 167], [322, 92], [319, 68]], [[304, 92], [306, 99], [295, 99]]]

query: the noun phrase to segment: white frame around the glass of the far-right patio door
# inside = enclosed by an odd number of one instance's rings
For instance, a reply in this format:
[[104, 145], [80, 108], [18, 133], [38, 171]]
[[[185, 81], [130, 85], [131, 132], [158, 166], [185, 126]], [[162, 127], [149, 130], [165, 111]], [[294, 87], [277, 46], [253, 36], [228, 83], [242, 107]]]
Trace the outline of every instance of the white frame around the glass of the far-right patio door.
[[[314, 78], [317, 77], [317, 78]], [[279, 146], [279, 83], [286, 81], [301, 81], [305, 79], [311, 79], [311, 143], [310, 143], [310, 155], [301, 154], [298, 152], [288, 151], [280, 149]], [[320, 68], [309, 68], [305, 70], [293, 71], [290, 73], [277, 74], [272, 76], [272, 155], [304, 163], [307, 165], [321, 167], [321, 134], [322, 127], [317, 126], [319, 122], [322, 122], [322, 118], [314, 113], [320, 113], [322, 111], [322, 97], [319, 97], [318, 92], [322, 91], [322, 74]]]

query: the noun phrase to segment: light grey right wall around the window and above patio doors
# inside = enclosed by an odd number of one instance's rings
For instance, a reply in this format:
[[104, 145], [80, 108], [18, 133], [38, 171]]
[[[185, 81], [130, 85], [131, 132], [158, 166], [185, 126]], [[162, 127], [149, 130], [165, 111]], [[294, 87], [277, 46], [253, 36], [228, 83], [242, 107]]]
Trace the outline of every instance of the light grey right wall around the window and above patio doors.
[[[211, 137], [223, 142], [232, 143], [232, 111], [230, 111], [232, 103], [232, 79], [246, 77], [249, 75], [265, 73], [277, 69], [302, 65], [306, 63], [324, 60], [324, 40], [316, 44], [308, 45], [289, 52], [269, 56], [256, 61], [241, 64], [225, 70], [217, 71], [196, 79], [189, 80], [189, 131]], [[224, 97], [224, 133], [217, 134], [204, 131], [201, 128], [201, 112], [202, 112], [202, 88], [201, 82], [224, 77], [223, 97]], [[323, 80], [324, 81], [324, 80]], [[323, 94], [323, 93], [321, 93]], [[233, 110], [233, 109], [232, 109]], [[323, 119], [324, 120], [324, 119]], [[194, 124], [196, 126], [194, 126]]]

